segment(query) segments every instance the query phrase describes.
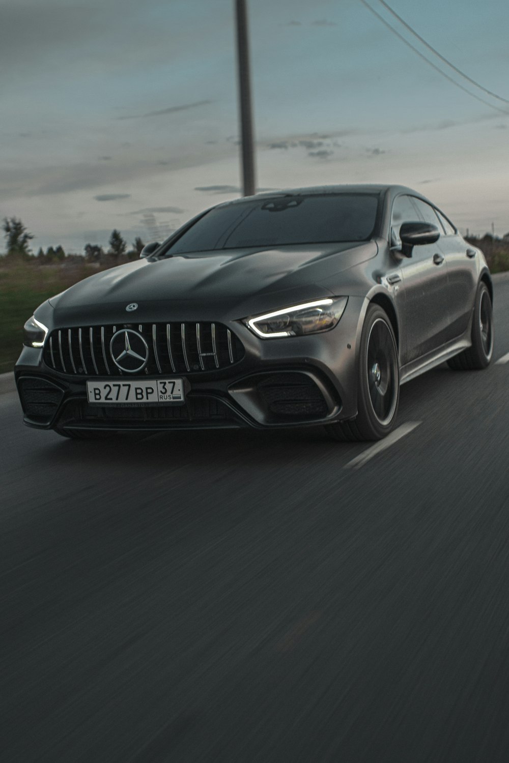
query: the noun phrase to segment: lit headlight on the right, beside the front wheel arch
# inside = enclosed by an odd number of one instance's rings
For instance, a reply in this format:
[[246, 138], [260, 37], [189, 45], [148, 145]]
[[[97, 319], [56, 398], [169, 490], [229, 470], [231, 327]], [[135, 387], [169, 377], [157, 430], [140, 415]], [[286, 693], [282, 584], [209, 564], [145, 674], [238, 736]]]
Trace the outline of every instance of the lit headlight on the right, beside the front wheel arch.
[[285, 307], [284, 310], [245, 318], [244, 323], [263, 339], [328, 331], [340, 320], [347, 301], [348, 297], [337, 297], [296, 304], [294, 307]]

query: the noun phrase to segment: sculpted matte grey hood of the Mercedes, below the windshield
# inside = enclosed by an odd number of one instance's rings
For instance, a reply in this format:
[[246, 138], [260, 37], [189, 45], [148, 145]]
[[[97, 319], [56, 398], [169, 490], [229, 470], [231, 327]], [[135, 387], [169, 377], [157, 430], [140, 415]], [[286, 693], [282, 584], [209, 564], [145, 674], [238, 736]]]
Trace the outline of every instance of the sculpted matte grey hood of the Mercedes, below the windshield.
[[370, 259], [377, 250], [370, 241], [141, 259], [85, 278], [50, 303], [58, 323], [69, 325], [125, 320], [125, 307], [131, 302], [138, 305], [132, 314], [136, 322], [206, 320], [218, 307], [223, 319], [234, 319], [276, 303], [330, 296], [330, 288], [321, 282]]

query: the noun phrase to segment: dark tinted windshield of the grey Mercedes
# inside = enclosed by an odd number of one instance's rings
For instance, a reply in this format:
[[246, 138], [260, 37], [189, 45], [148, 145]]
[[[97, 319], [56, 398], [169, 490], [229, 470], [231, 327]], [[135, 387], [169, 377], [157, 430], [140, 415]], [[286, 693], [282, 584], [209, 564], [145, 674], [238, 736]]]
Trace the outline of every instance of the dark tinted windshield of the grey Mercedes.
[[367, 241], [375, 228], [378, 196], [274, 196], [211, 209], [166, 250], [167, 254], [246, 246]]

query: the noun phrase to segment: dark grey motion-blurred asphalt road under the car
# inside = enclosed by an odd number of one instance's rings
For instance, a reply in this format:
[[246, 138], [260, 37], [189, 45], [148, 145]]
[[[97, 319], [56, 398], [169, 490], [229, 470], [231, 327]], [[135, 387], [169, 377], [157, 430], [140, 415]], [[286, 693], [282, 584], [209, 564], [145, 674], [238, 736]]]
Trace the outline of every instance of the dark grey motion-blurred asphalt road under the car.
[[2, 395], [2, 763], [507, 763], [508, 382], [409, 382], [358, 468], [321, 430], [67, 441]]

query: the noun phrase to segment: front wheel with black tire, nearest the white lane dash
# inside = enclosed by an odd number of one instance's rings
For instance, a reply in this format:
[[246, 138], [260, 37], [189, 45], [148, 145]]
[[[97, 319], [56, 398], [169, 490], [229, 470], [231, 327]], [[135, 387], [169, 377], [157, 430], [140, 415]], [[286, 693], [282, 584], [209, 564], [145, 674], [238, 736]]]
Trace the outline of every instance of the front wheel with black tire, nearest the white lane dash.
[[382, 439], [394, 429], [399, 405], [398, 348], [391, 321], [370, 304], [359, 347], [357, 416], [330, 424], [328, 433], [343, 441]]

